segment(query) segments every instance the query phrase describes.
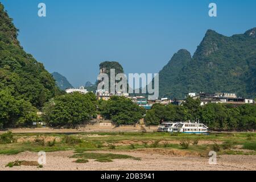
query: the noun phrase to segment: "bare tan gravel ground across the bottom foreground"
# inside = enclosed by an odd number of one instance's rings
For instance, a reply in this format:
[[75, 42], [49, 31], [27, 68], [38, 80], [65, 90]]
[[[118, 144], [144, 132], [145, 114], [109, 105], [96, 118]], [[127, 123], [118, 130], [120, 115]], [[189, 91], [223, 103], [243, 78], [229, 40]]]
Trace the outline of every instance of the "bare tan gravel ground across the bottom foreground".
[[[108, 151], [105, 151], [108, 152]], [[110, 152], [110, 151], [109, 151]], [[154, 153], [140, 151], [118, 151], [114, 154], [127, 154], [141, 158], [134, 159], [114, 159], [110, 163], [95, 162], [89, 159], [88, 163], [77, 164], [73, 163], [75, 159], [69, 158], [73, 155], [73, 151], [48, 152], [46, 156], [47, 164], [43, 168], [35, 166], [18, 166], [5, 167], [9, 162], [14, 160], [37, 161], [38, 155], [36, 152], [22, 152], [17, 155], [0, 155], [0, 171], [3, 170], [32, 170], [32, 171], [56, 171], [56, 170], [79, 170], [79, 171], [108, 171], [108, 170], [127, 170], [127, 171], [147, 171], [147, 170], [256, 170], [256, 156], [250, 155], [222, 155], [217, 158], [217, 165], [209, 165], [208, 158], [198, 156], [171, 156], [159, 155]]]

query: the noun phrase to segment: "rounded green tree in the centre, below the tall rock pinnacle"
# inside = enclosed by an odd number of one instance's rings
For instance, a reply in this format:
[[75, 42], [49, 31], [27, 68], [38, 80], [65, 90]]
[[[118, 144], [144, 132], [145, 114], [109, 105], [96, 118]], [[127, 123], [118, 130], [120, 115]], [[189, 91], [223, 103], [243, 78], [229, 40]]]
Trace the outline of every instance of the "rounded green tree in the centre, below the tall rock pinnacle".
[[130, 125], [143, 118], [145, 110], [128, 98], [113, 96], [100, 106], [101, 115], [117, 125]]

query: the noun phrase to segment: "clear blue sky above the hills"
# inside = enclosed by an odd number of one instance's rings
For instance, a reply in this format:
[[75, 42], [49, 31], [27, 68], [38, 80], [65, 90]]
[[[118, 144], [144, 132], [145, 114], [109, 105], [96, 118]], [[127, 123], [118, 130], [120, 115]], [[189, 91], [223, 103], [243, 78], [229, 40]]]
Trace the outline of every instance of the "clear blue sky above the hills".
[[[208, 29], [231, 36], [256, 27], [256, 1], [0, 0], [24, 49], [73, 86], [94, 82], [98, 64], [158, 73], [181, 48], [193, 55]], [[38, 16], [46, 3], [47, 17]], [[217, 17], [208, 16], [210, 2]]]

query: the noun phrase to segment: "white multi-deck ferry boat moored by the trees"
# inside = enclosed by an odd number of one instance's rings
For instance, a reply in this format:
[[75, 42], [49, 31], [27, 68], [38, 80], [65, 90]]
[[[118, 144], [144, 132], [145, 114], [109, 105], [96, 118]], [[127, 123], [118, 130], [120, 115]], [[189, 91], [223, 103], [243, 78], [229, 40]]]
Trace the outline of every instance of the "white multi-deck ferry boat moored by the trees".
[[164, 122], [158, 127], [159, 132], [176, 132], [187, 134], [208, 133], [208, 127], [199, 122]]

